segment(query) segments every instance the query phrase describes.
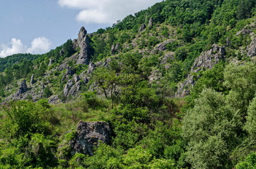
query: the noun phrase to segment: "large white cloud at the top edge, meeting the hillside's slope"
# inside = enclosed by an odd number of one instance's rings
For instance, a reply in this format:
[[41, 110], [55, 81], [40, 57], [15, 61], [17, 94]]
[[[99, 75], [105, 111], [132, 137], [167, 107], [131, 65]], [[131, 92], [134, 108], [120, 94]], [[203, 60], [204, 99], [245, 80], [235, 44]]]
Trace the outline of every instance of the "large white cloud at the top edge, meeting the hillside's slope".
[[76, 20], [83, 23], [115, 23], [162, 0], [59, 0], [60, 6], [78, 8]]

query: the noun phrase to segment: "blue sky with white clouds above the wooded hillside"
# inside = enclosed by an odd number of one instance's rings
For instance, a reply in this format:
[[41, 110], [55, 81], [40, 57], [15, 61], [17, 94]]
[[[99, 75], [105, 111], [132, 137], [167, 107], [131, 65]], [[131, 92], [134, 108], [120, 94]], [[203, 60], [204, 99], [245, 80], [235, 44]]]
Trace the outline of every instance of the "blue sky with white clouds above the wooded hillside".
[[0, 57], [43, 54], [162, 0], [8, 0], [0, 3]]

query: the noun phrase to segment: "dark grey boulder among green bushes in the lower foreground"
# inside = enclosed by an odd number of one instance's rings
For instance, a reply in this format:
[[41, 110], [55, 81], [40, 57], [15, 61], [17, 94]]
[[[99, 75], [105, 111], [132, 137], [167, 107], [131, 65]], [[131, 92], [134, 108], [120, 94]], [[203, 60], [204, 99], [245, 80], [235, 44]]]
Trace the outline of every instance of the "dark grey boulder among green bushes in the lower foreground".
[[74, 156], [74, 154], [79, 153], [93, 156], [93, 147], [97, 146], [99, 141], [109, 144], [111, 134], [108, 123], [80, 121], [76, 127], [74, 139], [69, 142], [71, 155]]

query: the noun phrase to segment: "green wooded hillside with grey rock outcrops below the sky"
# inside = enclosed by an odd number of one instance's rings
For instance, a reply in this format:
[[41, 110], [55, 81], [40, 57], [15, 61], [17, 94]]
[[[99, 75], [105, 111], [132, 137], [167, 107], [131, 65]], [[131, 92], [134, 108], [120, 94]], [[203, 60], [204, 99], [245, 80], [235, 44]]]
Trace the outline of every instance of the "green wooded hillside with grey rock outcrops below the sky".
[[0, 168], [256, 168], [255, 5], [166, 0], [1, 58]]

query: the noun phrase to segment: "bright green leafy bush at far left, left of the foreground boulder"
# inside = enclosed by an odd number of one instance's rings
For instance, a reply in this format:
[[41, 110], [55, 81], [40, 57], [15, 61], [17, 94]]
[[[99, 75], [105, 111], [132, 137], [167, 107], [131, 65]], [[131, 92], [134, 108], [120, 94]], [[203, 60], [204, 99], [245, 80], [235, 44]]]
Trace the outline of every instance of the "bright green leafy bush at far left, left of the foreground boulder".
[[7, 119], [2, 132], [6, 137], [21, 137], [25, 134], [50, 134], [50, 123], [42, 118], [45, 109], [31, 101], [13, 101], [4, 108]]

